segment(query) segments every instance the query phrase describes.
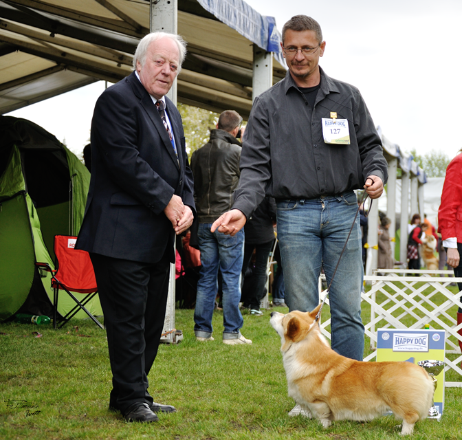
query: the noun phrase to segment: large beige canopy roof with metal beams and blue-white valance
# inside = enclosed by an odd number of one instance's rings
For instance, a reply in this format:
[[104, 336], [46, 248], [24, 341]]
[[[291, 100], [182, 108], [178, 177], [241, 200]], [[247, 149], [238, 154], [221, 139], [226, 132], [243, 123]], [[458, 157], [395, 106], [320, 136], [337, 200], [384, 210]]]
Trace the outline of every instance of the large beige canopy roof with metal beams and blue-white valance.
[[[0, 114], [129, 75], [149, 32], [149, 7], [148, 0], [0, 0]], [[274, 19], [243, 0], [178, 0], [177, 21], [188, 42], [179, 102], [248, 116], [253, 43], [275, 52], [274, 83], [285, 76]]]

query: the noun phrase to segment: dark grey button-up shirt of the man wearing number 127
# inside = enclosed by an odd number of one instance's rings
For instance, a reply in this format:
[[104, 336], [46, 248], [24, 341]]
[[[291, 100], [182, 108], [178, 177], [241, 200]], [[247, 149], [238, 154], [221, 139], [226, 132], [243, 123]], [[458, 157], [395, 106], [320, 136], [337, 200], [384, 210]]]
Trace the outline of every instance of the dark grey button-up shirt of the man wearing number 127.
[[[241, 152], [241, 179], [233, 208], [250, 218], [266, 195], [314, 199], [362, 188], [369, 175], [384, 184], [388, 165], [371, 115], [355, 87], [320, 69], [311, 109], [290, 72], [254, 101]], [[326, 144], [322, 118], [349, 122], [350, 144]]]

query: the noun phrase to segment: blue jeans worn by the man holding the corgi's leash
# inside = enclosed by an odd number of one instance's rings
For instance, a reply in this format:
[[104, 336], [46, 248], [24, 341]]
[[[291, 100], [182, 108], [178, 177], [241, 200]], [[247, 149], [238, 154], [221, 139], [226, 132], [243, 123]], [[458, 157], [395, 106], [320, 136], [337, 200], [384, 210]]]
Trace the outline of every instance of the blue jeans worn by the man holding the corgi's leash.
[[[354, 192], [347, 192], [336, 197], [278, 201], [277, 208], [285, 302], [291, 311], [311, 311], [319, 304], [321, 267], [327, 285], [331, 283], [358, 209], [357, 199]], [[356, 360], [362, 360], [364, 354], [363, 275], [358, 215], [329, 290], [331, 347]]]

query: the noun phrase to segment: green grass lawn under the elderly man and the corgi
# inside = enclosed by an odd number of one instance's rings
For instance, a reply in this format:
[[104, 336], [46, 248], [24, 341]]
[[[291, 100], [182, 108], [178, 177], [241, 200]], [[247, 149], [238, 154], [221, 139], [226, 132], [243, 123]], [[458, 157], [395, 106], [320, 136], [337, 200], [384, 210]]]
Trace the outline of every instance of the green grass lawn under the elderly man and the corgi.
[[[253, 340], [250, 346], [221, 343], [220, 311], [214, 313], [215, 341], [197, 342], [192, 315], [192, 310], [177, 310], [176, 327], [184, 341], [162, 344], [149, 375], [155, 401], [178, 409], [159, 414], [157, 423], [126, 423], [108, 410], [107, 341], [93, 322], [72, 320], [58, 331], [0, 324], [0, 439], [401, 438], [393, 417], [337, 421], [327, 430], [317, 421], [287, 417], [294, 401], [287, 396], [270, 310], [263, 316], [244, 315], [242, 333]], [[33, 331], [42, 337], [34, 338]], [[30, 408], [21, 407], [22, 401]], [[447, 388], [441, 423], [417, 423], [412, 438], [462, 439], [462, 388]]]

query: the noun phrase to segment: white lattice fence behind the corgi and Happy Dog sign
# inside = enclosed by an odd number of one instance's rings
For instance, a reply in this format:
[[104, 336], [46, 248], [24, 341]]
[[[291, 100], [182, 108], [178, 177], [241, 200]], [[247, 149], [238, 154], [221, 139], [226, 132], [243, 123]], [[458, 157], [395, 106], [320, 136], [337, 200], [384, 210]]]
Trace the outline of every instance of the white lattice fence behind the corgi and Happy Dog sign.
[[[363, 317], [366, 336], [371, 339], [371, 349], [374, 350], [365, 361], [376, 357], [377, 329], [423, 329], [430, 325], [433, 329], [445, 330], [446, 356], [445, 371], [450, 369], [462, 376], [460, 362], [462, 361], [459, 340], [462, 336], [458, 331], [454, 318], [457, 307], [462, 307], [462, 292], [453, 294], [448, 289], [450, 283], [462, 283], [462, 278], [449, 278], [452, 271], [427, 270], [380, 270], [381, 274], [364, 276], [365, 283], [372, 284], [371, 290], [362, 292], [362, 301], [371, 306], [369, 320]], [[409, 276], [410, 274], [421, 276]], [[444, 276], [447, 275], [447, 276]], [[320, 298], [324, 298], [322, 280], [320, 277]], [[329, 300], [326, 301], [329, 304]], [[366, 322], [367, 321], [367, 322]], [[321, 322], [322, 333], [331, 338], [327, 327], [331, 320]], [[450, 360], [447, 354], [459, 354], [455, 360]], [[462, 386], [462, 382], [445, 382], [445, 386]]]

